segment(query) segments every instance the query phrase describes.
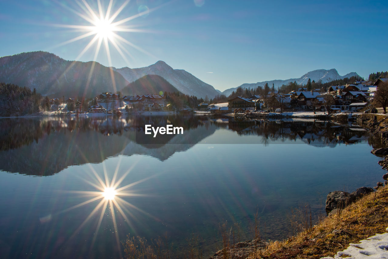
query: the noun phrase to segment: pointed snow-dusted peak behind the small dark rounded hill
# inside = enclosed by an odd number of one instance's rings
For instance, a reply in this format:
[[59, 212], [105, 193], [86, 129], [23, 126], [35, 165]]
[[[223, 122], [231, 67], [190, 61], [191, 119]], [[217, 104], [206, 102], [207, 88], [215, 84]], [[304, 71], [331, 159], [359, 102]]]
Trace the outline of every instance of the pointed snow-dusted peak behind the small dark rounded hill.
[[161, 60], [142, 68], [111, 68], [119, 72], [128, 82], [133, 82], [144, 75], [160, 75], [184, 94], [202, 98], [206, 96], [213, 98], [220, 94], [213, 86], [199, 80], [191, 73], [182, 69], [173, 69]]

